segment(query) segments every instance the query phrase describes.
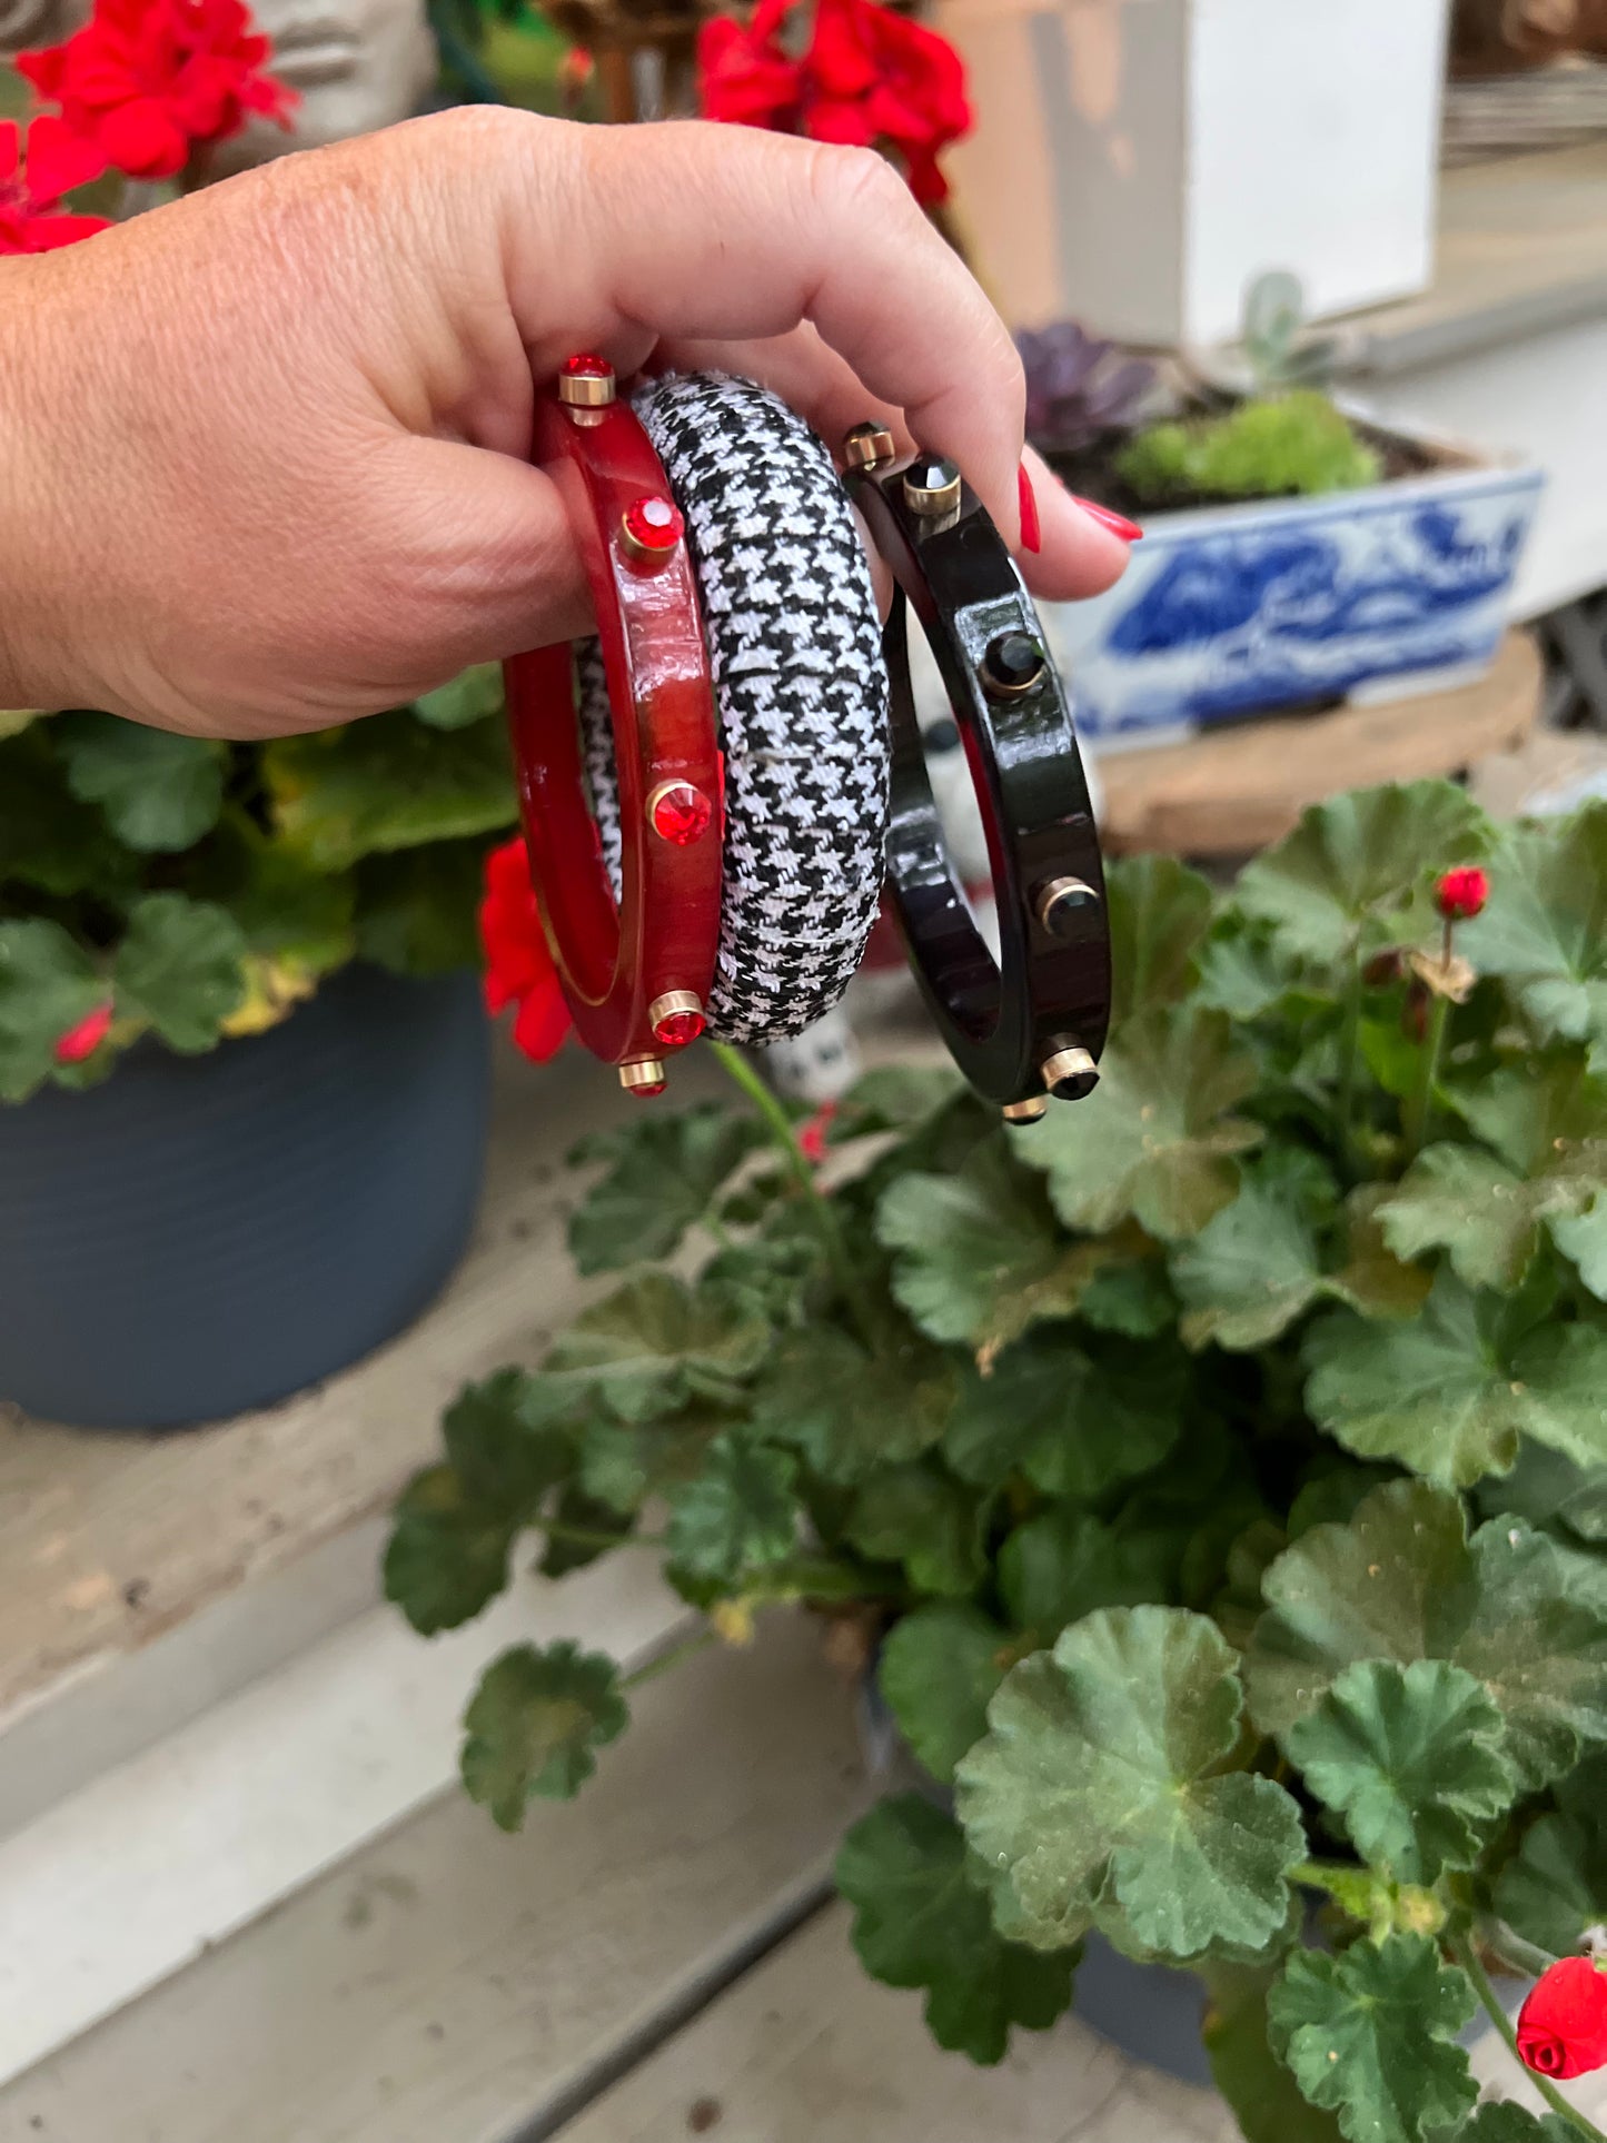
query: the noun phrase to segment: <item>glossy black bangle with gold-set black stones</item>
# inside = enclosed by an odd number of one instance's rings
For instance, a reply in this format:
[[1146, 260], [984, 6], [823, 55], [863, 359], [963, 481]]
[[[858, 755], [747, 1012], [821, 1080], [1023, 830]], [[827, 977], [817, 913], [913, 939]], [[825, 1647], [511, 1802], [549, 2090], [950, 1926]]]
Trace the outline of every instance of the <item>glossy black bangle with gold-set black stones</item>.
[[[1011, 1121], [1097, 1084], [1110, 1024], [1099, 838], [1071, 709], [1016, 564], [953, 463], [848, 433], [848, 491], [898, 583], [883, 634], [893, 797], [887, 876], [915, 975], [964, 1076]], [[906, 604], [971, 761], [994, 898], [994, 962], [943, 840], [915, 720]]]

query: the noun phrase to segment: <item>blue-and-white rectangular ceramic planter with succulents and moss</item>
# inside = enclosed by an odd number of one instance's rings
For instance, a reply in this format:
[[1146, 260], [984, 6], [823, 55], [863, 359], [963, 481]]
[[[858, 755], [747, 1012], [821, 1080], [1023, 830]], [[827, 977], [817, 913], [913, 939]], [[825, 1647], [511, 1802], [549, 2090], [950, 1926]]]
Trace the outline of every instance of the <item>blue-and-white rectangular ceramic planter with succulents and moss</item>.
[[1288, 274], [1253, 285], [1243, 349], [1247, 392], [1196, 386], [1155, 420], [1146, 366], [1071, 324], [1022, 336], [1035, 444], [1144, 525], [1116, 587], [1046, 606], [1093, 739], [1451, 684], [1506, 630], [1541, 471], [1337, 405]]

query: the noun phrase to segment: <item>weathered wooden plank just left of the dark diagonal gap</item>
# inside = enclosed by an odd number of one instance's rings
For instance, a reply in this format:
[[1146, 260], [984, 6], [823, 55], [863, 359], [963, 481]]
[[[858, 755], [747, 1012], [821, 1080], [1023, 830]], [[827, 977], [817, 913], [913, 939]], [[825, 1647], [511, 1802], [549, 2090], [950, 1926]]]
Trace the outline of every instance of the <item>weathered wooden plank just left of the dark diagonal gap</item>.
[[574, 1807], [446, 1796], [0, 2092], [0, 2143], [540, 2130], [808, 1909], [863, 1796], [853, 1691], [771, 1616], [645, 1684]]

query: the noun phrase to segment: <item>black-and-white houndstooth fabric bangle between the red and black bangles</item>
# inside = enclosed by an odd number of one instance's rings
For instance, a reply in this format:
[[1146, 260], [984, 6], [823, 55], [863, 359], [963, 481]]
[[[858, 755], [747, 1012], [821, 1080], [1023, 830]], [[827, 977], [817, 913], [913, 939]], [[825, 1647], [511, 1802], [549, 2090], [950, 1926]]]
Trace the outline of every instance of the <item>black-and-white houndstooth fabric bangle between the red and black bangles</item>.
[[[726, 859], [709, 1033], [801, 1033], [846, 990], [876, 919], [887, 671], [870, 568], [831, 456], [752, 379], [675, 373], [636, 411], [686, 514], [726, 754]], [[617, 883], [619, 799], [600, 664], [581, 724]]]

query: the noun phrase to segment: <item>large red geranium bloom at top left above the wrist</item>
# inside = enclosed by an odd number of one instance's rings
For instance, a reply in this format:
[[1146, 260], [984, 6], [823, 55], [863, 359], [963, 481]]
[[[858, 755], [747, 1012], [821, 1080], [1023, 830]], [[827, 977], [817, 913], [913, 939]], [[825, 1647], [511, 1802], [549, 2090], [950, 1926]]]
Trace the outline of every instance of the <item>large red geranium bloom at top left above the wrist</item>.
[[242, 0], [96, 0], [64, 45], [17, 71], [131, 178], [171, 178], [195, 141], [227, 141], [251, 111], [289, 126], [294, 92]]

